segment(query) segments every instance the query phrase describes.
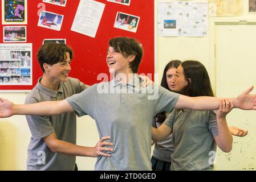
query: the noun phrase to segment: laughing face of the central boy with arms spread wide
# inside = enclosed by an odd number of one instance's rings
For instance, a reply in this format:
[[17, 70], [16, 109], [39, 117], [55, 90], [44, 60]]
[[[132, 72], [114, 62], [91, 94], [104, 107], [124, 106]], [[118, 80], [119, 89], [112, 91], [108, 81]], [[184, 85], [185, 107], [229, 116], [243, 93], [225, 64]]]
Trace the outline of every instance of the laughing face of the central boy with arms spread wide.
[[119, 73], [132, 73], [131, 68], [129, 68], [129, 63], [131, 61], [131, 56], [124, 57], [121, 52], [117, 52], [115, 48], [109, 46], [107, 64], [110, 73], [115, 72], [115, 75]]

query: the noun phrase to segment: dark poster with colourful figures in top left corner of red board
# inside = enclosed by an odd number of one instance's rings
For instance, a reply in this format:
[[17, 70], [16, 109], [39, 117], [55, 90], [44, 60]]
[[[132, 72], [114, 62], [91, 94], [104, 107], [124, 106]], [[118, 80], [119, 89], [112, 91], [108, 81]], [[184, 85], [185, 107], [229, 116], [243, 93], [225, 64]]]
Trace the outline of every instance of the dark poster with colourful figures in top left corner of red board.
[[2, 24], [27, 24], [27, 0], [2, 0]]

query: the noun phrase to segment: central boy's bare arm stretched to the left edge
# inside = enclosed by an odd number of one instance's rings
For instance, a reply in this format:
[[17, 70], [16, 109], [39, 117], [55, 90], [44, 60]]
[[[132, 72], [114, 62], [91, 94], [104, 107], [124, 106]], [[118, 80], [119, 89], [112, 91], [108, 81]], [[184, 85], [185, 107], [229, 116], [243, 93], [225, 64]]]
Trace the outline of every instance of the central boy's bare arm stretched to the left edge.
[[12, 115], [57, 115], [73, 111], [73, 107], [66, 100], [38, 102], [36, 104], [14, 104], [5, 98], [0, 98], [0, 118]]

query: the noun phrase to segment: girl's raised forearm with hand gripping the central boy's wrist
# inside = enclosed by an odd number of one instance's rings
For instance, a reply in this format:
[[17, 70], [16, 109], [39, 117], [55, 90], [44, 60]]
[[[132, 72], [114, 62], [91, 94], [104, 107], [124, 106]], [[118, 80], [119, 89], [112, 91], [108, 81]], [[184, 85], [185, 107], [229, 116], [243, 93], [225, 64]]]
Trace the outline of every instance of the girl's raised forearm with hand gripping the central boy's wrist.
[[217, 146], [224, 152], [230, 152], [232, 149], [233, 138], [226, 122], [226, 115], [233, 109], [229, 101], [223, 99], [220, 101], [220, 109], [217, 111], [218, 136], [214, 137]]

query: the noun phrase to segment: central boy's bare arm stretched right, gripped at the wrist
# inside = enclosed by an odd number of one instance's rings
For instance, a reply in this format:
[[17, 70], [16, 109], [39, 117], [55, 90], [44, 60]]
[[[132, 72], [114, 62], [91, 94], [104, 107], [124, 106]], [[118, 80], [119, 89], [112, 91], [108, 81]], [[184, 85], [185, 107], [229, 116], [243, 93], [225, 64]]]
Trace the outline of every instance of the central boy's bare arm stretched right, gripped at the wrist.
[[[228, 98], [230, 103], [234, 103], [233, 107], [243, 110], [256, 110], [256, 94], [249, 94], [253, 90], [253, 86], [245, 90], [237, 98]], [[221, 98], [217, 97], [187, 97], [180, 96], [176, 105], [176, 109], [193, 109], [193, 110], [217, 110]]]

